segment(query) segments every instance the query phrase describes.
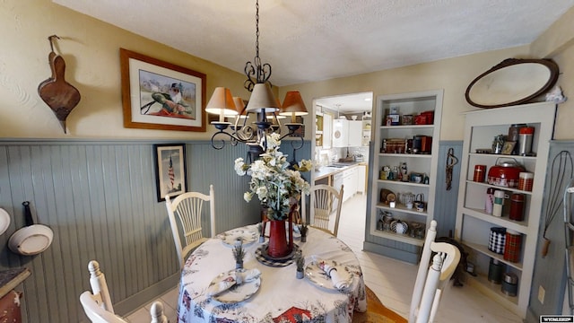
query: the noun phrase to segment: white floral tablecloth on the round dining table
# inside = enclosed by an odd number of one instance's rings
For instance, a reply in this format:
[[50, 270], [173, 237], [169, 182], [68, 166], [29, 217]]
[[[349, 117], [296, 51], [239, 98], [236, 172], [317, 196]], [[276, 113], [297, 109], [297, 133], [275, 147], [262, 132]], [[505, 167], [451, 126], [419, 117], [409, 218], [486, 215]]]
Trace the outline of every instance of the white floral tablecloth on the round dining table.
[[[256, 231], [257, 226], [241, 228]], [[220, 236], [221, 237], [221, 236]], [[296, 266], [265, 266], [257, 260], [258, 241], [244, 246], [246, 269], [261, 271], [259, 290], [248, 300], [222, 303], [207, 296], [207, 287], [221, 273], [235, 268], [231, 247], [222, 239], [204, 242], [187, 258], [183, 268], [178, 322], [335, 322], [352, 321], [354, 310], [367, 310], [365, 284], [359, 261], [343, 241], [324, 231], [309, 228], [307, 241], [294, 239], [305, 257], [335, 261], [352, 273], [351, 287], [345, 292], [320, 287], [307, 277], [296, 278]]]

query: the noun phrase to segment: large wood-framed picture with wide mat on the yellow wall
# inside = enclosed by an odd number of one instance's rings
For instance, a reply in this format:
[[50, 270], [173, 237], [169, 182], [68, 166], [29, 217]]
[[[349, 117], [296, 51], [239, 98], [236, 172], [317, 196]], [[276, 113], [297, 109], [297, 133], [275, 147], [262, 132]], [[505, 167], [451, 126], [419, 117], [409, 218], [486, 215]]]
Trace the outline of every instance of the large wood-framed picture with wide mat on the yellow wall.
[[119, 49], [124, 127], [205, 131], [205, 74]]

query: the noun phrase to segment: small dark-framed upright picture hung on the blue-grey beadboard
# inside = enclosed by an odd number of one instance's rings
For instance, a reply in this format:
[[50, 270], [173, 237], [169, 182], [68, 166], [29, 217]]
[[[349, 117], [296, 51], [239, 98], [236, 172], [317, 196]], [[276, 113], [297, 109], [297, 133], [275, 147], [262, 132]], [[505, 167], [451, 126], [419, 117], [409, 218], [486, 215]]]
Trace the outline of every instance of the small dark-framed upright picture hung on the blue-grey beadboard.
[[165, 196], [178, 196], [187, 190], [186, 146], [184, 144], [154, 144], [155, 179], [158, 202]]

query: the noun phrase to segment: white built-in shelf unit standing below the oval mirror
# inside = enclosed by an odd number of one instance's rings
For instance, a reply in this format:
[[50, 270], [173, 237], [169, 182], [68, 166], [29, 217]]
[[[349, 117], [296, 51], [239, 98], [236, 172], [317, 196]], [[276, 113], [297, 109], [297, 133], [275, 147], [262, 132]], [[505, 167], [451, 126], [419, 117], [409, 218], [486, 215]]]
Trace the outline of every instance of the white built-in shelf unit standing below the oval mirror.
[[[535, 254], [535, 250], [538, 228], [541, 225], [544, 179], [555, 112], [556, 106], [552, 102], [542, 102], [507, 108], [480, 109], [465, 113], [465, 139], [455, 237], [469, 252], [468, 261], [474, 264], [476, 275], [465, 275], [465, 280], [523, 319], [526, 318], [529, 294], [533, 287], [531, 284], [535, 258], [539, 256]], [[535, 155], [502, 155], [489, 152], [486, 148], [491, 148], [494, 136], [508, 134], [509, 127], [514, 124], [526, 124], [528, 127], [535, 128], [532, 144], [532, 151]], [[500, 157], [510, 157], [525, 168], [523, 171], [534, 173], [531, 191], [514, 188], [514, 185], [501, 187], [500, 182], [499, 186], [496, 186], [494, 185], [496, 181], [489, 180], [488, 177], [485, 181], [480, 177], [474, 180], [476, 165], [485, 165], [487, 170], [491, 170], [491, 167], [499, 164], [497, 161]], [[488, 188], [501, 190], [505, 196], [524, 196], [522, 220], [510, 219], [506, 212], [509, 209], [508, 204], [502, 206], [501, 216], [490, 214], [489, 208], [485, 207]], [[513, 252], [517, 253], [517, 257], [505, 257], [491, 251], [493, 248], [489, 248], [489, 240], [493, 227], [503, 228], [506, 232], [513, 232], [513, 237], [519, 237], [518, 243], [510, 246]], [[504, 249], [508, 247], [507, 244]], [[508, 254], [509, 250], [506, 251]], [[489, 268], [491, 261], [494, 260], [502, 264], [499, 266], [503, 267], [504, 273], [517, 277], [516, 296], [501, 292], [500, 284], [493, 284], [489, 281]], [[493, 276], [490, 277], [493, 278]]]

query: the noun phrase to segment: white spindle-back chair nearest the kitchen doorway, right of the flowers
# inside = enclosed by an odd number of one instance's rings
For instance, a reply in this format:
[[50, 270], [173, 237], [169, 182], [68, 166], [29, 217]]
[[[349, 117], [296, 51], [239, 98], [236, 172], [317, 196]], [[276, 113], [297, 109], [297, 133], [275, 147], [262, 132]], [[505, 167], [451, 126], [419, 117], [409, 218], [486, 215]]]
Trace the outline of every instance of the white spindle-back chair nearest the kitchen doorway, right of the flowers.
[[[310, 221], [309, 225], [314, 228], [326, 231], [337, 236], [339, 231], [339, 218], [341, 217], [341, 205], [343, 204], [343, 185], [341, 190], [337, 191], [335, 188], [328, 185], [315, 185], [309, 188], [310, 196]], [[301, 195], [301, 210], [303, 220], [307, 221], [306, 215], [306, 197]], [[331, 230], [330, 220], [334, 217], [334, 229]]]

